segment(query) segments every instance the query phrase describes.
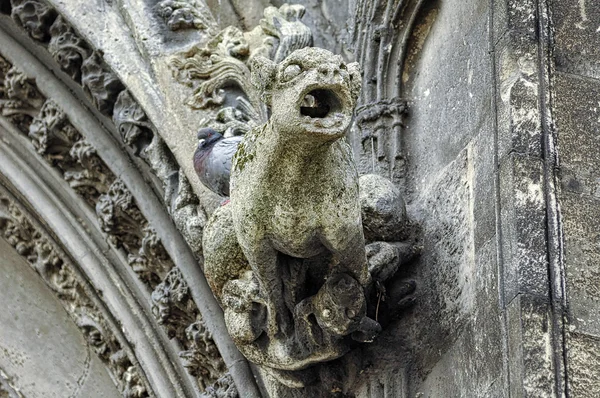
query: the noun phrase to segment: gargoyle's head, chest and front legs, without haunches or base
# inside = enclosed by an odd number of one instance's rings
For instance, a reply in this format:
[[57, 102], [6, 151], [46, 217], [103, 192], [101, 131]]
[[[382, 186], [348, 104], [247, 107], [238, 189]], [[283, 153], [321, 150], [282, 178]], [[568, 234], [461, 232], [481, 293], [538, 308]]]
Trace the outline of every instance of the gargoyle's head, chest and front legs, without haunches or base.
[[358, 175], [340, 140], [360, 75], [357, 64], [347, 67], [340, 56], [316, 48], [297, 50], [277, 66], [256, 58], [253, 69], [272, 114], [236, 153], [232, 213], [275, 334], [289, 326], [278, 252], [310, 258], [329, 251], [332, 274], [369, 282]]

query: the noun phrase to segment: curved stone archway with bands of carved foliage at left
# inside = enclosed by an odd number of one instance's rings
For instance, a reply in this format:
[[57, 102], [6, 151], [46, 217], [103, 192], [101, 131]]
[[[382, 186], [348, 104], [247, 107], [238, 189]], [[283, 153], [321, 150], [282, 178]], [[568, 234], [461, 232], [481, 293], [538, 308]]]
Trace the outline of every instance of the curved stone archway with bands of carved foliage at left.
[[[255, 390], [245, 360], [219, 332], [222, 315], [197, 266], [199, 247], [194, 253], [174, 225], [180, 221], [193, 240], [202, 215], [152, 123], [54, 8], [17, 1], [3, 12], [12, 17], [2, 16], [0, 49], [6, 208], [33, 214], [26, 225], [41, 223], [44, 231], [35, 235], [54, 237], [40, 244], [64, 258], [48, 272], [72, 264], [76, 272], [68, 272], [79, 275], [72, 283], [100, 292], [91, 307], [108, 320], [81, 327], [102, 345], [99, 356], [119, 389], [125, 396], [192, 396], [219, 379], [215, 388], [227, 391], [235, 388], [228, 369], [238, 386]], [[20, 249], [13, 216], [7, 210], [3, 232]]]

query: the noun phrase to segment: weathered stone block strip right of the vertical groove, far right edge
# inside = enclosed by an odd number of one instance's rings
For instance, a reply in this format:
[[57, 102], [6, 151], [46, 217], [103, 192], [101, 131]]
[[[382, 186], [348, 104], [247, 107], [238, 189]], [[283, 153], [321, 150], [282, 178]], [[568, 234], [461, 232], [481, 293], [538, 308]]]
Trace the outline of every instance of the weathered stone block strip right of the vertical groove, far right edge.
[[598, 394], [600, 150], [598, 19], [592, 2], [551, 2], [555, 24], [554, 121], [560, 168], [568, 327], [566, 371], [574, 397]]

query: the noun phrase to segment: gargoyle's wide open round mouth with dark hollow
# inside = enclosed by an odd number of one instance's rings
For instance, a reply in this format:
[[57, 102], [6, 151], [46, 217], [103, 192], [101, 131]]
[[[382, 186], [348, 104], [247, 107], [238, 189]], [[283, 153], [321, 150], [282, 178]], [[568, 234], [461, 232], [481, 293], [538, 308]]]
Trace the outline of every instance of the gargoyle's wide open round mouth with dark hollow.
[[300, 115], [317, 128], [340, 127], [345, 121], [344, 106], [330, 89], [314, 89], [304, 95]]

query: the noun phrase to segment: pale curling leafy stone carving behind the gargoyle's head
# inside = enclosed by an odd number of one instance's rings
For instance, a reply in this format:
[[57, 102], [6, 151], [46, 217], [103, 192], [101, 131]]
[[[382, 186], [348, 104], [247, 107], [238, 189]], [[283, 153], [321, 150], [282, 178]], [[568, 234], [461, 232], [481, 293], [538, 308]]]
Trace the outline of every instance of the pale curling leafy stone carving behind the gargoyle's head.
[[250, 85], [249, 61], [261, 55], [277, 62], [312, 42], [300, 18], [301, 5], [267, 7], [260, 26], [243, 33], [230, 26], [204, 48], [193, 47], [172, 61], [175, 78], [192, 87], [187, 104], [193, 109], [221, 106], [202, 122], [226, 137], [243, 134], [264, 123], [267, 113], [259, 91]]

